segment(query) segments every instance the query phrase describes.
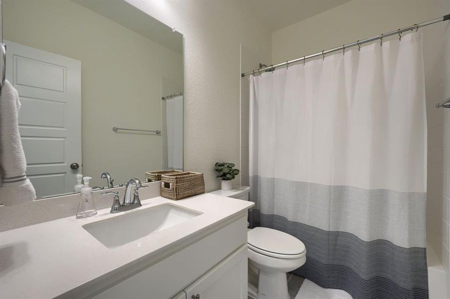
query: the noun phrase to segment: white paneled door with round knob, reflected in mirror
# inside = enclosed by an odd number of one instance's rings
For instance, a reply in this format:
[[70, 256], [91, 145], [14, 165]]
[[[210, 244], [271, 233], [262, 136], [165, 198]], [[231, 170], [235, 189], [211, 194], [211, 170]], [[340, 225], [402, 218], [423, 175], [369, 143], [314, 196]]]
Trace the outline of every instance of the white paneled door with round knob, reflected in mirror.
[[4, 42], [6, 79], [21, 103], [27, 177], [38, 197], [72, 192], [81, 172], [81, 61]]

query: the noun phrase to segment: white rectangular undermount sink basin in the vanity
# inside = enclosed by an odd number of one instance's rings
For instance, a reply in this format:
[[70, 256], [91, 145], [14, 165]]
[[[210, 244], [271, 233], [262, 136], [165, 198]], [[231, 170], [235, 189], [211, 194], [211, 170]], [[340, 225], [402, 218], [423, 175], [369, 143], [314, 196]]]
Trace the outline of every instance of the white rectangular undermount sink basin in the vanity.
[[202, 214], [166, 203], [123, 215], [88, 223], [82, 227], [108, 248], [135, 241]]

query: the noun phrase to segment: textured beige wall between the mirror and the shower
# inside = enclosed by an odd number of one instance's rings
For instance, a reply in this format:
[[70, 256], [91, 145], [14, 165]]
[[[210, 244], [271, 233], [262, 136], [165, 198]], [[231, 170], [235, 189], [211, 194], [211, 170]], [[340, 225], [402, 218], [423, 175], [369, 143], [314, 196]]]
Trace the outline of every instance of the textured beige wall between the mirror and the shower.
[[254, 68], [270, 60], [270, 33], [235, 1], [127, 1], [184, 34], [184, 168], [218, 189], [214, 163], [240, 159], [239, 45], [258, 53], [244, 62]]

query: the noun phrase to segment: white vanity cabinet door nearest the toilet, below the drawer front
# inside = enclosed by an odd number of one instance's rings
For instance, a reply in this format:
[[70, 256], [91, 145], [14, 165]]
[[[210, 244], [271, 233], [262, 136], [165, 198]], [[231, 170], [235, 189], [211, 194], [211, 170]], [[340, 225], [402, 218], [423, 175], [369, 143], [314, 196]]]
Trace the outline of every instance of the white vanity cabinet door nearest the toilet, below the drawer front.
[[247, 299], [247, 256], [245, 244], [186, 288], [186, 298]]

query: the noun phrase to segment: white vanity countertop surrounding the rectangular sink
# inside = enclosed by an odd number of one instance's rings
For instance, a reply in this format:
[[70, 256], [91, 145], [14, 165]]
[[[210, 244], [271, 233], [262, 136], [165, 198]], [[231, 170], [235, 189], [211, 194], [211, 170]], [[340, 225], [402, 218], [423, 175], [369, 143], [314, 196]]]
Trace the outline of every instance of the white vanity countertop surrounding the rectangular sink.
[[[71, 216], [0, 233], [0, 297], [68, 298], [75, 290], [90, 292], [95, 283], [139, 262], [151, 264], [165, 258], [169, 250], [187, 246], [193, 238], [208, 234], [209, 228], [253, 206], [252, 202], [209, 193], [177, 201], [158, 196], [141, 203], [140, 208], [118, 214], [110, 214], [107, 208], [84, 219]], [[116, 248], [105, 247], [81, 227], [162, 203], [203, 214]]]

